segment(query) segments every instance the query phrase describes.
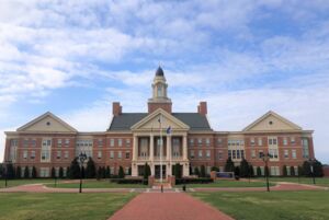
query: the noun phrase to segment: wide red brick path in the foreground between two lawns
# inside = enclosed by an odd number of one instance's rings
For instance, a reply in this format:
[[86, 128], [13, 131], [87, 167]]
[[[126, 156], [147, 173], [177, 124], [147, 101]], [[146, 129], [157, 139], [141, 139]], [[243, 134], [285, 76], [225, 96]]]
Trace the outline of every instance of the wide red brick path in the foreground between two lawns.
[[232, 220], [232, 218], [183, 193], [144, 193], [109, 220]]

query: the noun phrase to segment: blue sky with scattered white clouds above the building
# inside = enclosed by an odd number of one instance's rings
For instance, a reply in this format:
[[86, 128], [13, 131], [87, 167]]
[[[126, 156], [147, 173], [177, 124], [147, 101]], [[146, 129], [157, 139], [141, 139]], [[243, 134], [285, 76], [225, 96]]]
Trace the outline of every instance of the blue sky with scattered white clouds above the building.
[[111, 103], [146, 112], [158, 65], [175, 112], [208, 102], [216, 130], [272, 109], [314, 129], [329, 163], [329, 1], [0, 0], [4, 130], [50, 111], [105, 130]]

